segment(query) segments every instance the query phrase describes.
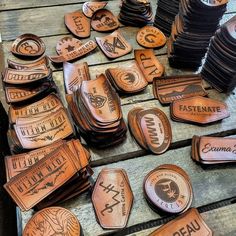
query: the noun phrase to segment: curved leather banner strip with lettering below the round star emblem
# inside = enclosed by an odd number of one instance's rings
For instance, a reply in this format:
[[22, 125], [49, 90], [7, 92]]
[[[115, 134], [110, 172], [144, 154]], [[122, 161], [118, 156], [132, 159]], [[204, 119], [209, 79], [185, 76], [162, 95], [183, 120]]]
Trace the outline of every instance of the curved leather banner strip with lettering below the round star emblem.
[[65, 61], [72, 61], [76, 58], [82, 57], [91, 51], [93, 51], [97, 47], [97, 44], [93, 40], [89, 40], [82, 46], [72, 50], [64, 55], [60, 56], [50, 56], [49, 59], [54, 63], [62, 63]]

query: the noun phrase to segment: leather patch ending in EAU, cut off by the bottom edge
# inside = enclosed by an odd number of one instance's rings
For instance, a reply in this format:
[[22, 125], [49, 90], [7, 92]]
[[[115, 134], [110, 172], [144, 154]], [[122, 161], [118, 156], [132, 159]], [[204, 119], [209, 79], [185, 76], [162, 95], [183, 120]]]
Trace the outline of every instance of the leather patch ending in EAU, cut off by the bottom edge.
[[191, 208], [184, 214], [161, 226], [149, 236], [160, 235], [199, 235], [212, 236], [213, 232], [206, 225], [198, 210]]

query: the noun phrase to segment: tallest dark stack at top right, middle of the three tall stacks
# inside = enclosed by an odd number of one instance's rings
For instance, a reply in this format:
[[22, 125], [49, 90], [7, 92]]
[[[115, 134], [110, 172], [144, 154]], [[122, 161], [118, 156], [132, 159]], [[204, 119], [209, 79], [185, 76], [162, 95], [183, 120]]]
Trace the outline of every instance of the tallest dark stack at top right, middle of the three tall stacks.
[[201, 65], [226, 3], [227, 0], [181, 0], [168, 42], [171, 66], [197, 69]]

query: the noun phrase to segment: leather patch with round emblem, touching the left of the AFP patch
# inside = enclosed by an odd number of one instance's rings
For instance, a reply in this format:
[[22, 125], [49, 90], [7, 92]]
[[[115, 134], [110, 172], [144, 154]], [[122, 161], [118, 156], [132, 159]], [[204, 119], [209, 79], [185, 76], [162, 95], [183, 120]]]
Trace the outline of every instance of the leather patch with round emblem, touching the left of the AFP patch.
[[136, 62], [126, 67], [109, 68], [106, 76], [121, 93], [137, 93], [148, 85]]

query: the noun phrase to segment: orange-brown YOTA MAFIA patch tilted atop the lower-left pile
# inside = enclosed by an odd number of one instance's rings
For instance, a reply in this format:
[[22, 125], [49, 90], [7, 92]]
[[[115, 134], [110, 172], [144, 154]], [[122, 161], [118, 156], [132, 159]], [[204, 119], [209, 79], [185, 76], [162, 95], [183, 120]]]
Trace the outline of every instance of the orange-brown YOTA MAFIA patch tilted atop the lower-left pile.
[[62, 145], [4, 185], [22, 211], [27, 211], [77, 173], [76, 158]]

